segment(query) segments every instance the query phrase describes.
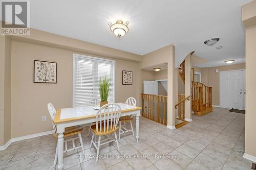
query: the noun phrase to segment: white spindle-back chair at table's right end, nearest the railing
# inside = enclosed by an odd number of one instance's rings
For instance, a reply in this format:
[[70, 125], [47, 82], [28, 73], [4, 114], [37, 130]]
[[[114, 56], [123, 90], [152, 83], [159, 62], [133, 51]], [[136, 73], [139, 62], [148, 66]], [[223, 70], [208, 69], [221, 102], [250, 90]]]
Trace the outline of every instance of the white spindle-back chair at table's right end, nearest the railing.
[[[126, 105], [132, 105], [136, 106], [136, 99], [134, 98], [128, 98], [125, 102]], [[128, 133], [128, 132], [133, 132], [133, 137], [134, 137], [134, 131], [133, 131], [133, 124], [132, 124], [132, 119], [133, 117], [131, 115], [129, 116], [122, 116], [119, 119], [119, 134], [118, 134], [118, 141], [120, 142], [120, 136], [123, 133]], [[131, 124], [131, 130], [127, 130], [125, 127], [125, 122], [130, 122]], [[122, 126], [122, 123], [124, 123], [124, 127]]]

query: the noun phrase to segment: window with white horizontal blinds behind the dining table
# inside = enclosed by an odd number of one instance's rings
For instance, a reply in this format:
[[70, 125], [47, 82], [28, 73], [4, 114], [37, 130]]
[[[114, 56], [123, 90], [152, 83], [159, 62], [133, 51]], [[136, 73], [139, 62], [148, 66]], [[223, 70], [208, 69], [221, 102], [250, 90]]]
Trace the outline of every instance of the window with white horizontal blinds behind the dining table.
[[108, 102], [115, 102], [115, 61], [74, 54], [73, 56], [73, 107], [87, 105], [100, 98], [99, 80], [110, 78]]

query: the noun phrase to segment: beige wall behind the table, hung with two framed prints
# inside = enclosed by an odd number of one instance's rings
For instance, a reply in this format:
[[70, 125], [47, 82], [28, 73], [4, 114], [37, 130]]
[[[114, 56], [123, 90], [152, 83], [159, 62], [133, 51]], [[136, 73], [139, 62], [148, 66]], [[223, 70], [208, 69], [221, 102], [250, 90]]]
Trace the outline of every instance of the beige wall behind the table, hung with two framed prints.
[[[78, 52], [12, 41], [12, 138], [52, 130], [47, 103], [51, 102], [56, 108], [72, 107], [73, 53]], [[33, 83], [33, 60], [57, 62], [57, 84]], [[119, 59], [115, 61], [116, 102], [125, 102], [134, 96], [140, 104], [139, 63]], [[122, 70], [133, 71], [133, 85], [122, 85]], [[47, 116], [46, 122], [41, 121], [43, 115]]]

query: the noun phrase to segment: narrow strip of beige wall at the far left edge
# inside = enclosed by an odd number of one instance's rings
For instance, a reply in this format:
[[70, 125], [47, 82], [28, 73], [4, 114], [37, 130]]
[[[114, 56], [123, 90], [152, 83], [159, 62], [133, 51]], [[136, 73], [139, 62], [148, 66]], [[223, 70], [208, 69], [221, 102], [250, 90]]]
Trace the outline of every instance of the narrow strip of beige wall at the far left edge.
[[11, 137], [11, 40], [0, 36], [0, 145]]

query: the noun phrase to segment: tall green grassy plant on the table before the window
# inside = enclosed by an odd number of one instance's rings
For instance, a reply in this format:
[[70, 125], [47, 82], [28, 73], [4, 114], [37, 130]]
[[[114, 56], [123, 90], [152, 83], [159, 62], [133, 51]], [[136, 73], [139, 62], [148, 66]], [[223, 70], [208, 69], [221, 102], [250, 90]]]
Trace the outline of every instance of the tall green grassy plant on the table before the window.
[[100, 101], [106, 102], [110, 93], [110, 79], [106, 76], [99, 80]]

